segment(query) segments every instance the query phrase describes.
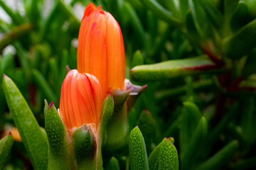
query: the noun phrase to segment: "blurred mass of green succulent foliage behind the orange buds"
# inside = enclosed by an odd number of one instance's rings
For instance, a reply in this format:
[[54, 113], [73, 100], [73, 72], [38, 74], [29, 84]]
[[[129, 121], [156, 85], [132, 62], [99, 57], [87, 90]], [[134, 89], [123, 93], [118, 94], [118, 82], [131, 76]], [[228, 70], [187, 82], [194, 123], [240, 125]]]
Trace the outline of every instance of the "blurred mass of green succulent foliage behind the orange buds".
[[[89, 2], [0, 0], [0, 75], [13, 79], [42, 127], [43, 99], [58, 108], [66, 66], [76, 68]], [[254, 169], [256, 1], [92, 2], [119, 22], [127, 78], [148, 84], [129, 113], [130, 129], [139, 125], [148, 156], [164, 137], [174, 137], [180, 169]], [[2, 86], [0, 103], [4, 134], [14, 120]], [[103, 156], [129, 169], [127, 149]], [[31, 169], [21, 142], [14, 142], [5, 168]]]

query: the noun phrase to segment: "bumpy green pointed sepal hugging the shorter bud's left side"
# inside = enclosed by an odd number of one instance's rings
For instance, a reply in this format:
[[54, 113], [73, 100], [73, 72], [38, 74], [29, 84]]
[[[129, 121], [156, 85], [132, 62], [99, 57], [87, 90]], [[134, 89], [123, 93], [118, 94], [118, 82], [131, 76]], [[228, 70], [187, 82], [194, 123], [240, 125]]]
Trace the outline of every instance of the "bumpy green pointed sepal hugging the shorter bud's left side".
[[48, 106], [45, 116], [49, 142], [48, 169], [74, 169], [71, 139], [53, 102]]

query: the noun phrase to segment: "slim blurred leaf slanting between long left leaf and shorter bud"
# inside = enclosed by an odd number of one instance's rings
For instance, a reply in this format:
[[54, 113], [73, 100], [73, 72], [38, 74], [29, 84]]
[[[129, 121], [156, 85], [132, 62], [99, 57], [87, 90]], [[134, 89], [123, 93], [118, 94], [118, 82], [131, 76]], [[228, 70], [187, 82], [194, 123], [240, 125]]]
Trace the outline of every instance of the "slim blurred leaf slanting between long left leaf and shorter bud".
[[48, 101], [55, 101], [55, 103], [58, 102], [55, 93], [53, 93], [53, 90], [50, 88], [50, 85], [37, 69], [32, 70], [32, 78], [36, 85], [42, 89]]

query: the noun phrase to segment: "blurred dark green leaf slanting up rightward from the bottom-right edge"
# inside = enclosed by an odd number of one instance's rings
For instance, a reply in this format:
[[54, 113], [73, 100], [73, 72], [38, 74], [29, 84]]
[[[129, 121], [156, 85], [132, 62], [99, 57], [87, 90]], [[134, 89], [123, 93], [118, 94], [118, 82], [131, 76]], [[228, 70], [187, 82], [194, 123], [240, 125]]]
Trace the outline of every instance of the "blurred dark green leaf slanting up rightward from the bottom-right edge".
[[238, 141], [233, 140], [228, 145], [223, 147], [219, 152], [210, 157], [206, 162], [203, 162], [196, 170], [213, 170], [221, 169], [223, 164], [230, 162], [238, 150]]

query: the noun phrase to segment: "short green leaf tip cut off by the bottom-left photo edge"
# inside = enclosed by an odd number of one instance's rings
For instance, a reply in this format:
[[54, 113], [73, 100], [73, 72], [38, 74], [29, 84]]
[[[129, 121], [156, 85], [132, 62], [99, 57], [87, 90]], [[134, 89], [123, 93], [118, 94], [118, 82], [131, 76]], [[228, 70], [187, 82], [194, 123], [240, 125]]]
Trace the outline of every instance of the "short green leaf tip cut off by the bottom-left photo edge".
[[14, 137], [11, 135], [11, 132], [0, 140], [0, 169], [4, 168], [13, 145]]

